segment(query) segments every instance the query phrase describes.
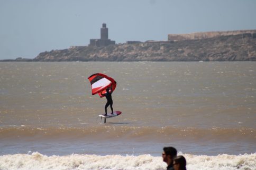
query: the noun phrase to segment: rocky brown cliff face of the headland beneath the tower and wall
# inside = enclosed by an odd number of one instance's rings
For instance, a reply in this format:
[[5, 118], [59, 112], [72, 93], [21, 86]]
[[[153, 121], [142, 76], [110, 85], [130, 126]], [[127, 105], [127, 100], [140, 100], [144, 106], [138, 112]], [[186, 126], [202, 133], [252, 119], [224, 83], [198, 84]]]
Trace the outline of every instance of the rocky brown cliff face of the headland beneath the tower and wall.
[[256, 36], [71, 47], [40, 53], [33, 61], [256, 61]]

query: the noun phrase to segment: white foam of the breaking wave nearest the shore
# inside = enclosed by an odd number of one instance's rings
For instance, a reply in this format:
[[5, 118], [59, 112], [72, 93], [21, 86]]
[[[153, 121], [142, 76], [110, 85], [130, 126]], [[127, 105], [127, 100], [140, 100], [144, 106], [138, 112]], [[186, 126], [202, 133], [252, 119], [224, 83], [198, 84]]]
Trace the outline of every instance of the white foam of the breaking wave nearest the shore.
[[[244, 155], [190, 155], [187, 169], [255, 169], [256, 153]], [[166, 169], [160, 156], [82, 155], [46, 156], [38, 152], [0, 156], [0, 169]]]

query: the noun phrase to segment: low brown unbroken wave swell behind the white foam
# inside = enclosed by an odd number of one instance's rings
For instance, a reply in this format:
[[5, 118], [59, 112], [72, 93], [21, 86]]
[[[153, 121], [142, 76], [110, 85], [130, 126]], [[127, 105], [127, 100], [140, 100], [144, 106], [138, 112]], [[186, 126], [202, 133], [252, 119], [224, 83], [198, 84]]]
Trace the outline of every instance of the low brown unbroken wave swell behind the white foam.
[[0, 128], [0, 139], [29, 138], [60, 139], [86, 138], [92, 139], [125, 139], [135, 141], [186, 140], [227, 142], [231, 140], [256, 141], [256, 130], [252, 128], [176, 128], [166, 127], [134, 127], [134, 126], [88, 126], [88, 127], [31, 127], [6, 126]]

